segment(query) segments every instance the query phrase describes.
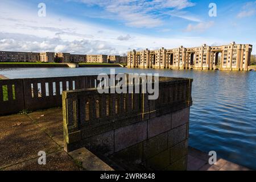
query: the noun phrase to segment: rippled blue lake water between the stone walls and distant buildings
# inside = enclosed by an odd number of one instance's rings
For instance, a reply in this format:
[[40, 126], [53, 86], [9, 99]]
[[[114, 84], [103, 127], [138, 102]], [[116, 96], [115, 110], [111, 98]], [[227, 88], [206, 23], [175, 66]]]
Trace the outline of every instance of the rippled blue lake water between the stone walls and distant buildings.
[[[115, 68], [115, 73], [159, 73], [193, 78], [189, 145], [256, 169], [256, 72]], [[110, 73], [110, 68], [0, 69], [9, 78]]]

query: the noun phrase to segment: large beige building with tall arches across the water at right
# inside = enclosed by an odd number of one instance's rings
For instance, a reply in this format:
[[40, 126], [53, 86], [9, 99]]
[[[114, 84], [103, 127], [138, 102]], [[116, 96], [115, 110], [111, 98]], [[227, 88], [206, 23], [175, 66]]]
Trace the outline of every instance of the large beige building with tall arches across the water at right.
[[230, 43], [226, 46], [207, 46], [174, 49], [163, 47], [150, 51], [130, 51], [127, 56], [128, 68], [167, 69], [220, 69], [247, 70], [253, 46]]

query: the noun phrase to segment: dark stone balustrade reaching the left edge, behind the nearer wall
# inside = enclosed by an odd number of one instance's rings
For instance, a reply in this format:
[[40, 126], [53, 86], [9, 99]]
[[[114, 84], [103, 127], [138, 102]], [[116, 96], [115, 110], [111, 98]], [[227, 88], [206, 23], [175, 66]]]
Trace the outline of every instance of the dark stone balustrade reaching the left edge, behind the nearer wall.
[[0, 115], [62, 106], [65, 90], [94, 88], [97, 76], [0, 80]]

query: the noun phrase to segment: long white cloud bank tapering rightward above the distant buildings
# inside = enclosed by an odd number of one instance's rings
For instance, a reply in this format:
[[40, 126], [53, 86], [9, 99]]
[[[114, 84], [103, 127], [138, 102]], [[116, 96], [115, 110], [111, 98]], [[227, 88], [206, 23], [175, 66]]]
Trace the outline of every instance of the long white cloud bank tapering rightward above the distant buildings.
[[[7, 13], [3, 13], [7, 11]], [[33, 12], [19, 6], [7, 6], [0, 1], [0, 50], [1, 51], [63, 51], [70, 53], [122, 55], [130, 49], [193, 47], [203, 43], [222, 42], [201, 37], [168, 38], [147, 36], [121, 30], [113, 30], [88, 22], [80, 22], [63, 16], [47, 14], [39, 18]], [[18, 17], [18, 22], [15, 19]], [[60, 21], [61, 19], [61, 21]], [[121, 38], [129, 38], [120, 41]], [[128, 36], [129, 35], [129, 36]]]

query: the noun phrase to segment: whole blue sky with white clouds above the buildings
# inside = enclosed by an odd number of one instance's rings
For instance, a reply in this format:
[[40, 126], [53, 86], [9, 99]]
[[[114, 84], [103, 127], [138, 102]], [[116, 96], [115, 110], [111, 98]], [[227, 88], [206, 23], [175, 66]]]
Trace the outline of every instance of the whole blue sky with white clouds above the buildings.
[[0, 22], [1, 51], [124, 55], [233, 41], [256, 46], [255, 0], [1, 0]]

